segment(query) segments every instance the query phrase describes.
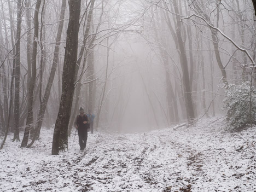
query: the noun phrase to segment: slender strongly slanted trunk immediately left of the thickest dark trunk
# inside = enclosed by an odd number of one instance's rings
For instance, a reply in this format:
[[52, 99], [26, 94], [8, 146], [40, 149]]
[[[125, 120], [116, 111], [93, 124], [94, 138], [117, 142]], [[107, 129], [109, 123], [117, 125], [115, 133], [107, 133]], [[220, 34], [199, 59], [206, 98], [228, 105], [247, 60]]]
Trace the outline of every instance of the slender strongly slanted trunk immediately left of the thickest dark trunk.
[[56, 72], [56, 68], [57, 68], [60, 42], [61, 42], [61, 34], [62, 34], [64, 18], [65, 18], [65, 9], [66, 9], [66, 0], [62, 0], [61, 13], [60, 13], [60, 24], [59, 24], [59, 28], [57, 31], [57, 37], [56, 37], [56, 43], [55, 43], [55, 49], [54, 49], [53, 65], [51, 67], [51, 72], [50, 72], [48, 83], [46, 85], [43, 100], [42, 100], [42, 102], [40, 102], [40, 110], [39, 110], [39, 114], [38, 114], [38, 118], [37, 118], [37, 123], [35, 126], [35, 134], [33, 136], [32, 142], [30, 144], [28, 144], [27, 148], [30, 148], [32, 146], [32, 144], [34, 143], [34, 141], [36, 139], [38, 139], [39, 135], [40, 135], [40, 130], [42, 127], [44, 114], [45, 114], [45, 109], [46, 109], [46, 106], [47, 106], [47, 103], [49, 100], [51, 86], [53, 85], [55, 72]]

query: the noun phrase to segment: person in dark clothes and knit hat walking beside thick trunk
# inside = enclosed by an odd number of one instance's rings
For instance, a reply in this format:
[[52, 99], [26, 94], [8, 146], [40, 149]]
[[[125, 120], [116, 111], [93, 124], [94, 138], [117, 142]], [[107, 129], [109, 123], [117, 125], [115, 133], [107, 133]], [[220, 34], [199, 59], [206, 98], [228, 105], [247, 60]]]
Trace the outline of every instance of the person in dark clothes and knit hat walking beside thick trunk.
[[80, 107], [79, 113], [80, 115], [77, 115], [77, 118], [75, 118], [74, 126], [75, 129], [78, 130], [80, 150], [84, 150], [86, 148], [88, 137], [87, 129], [90, 127], [90, 121], [87, 115], [84, 114], [84, 109], [82, 107]]

